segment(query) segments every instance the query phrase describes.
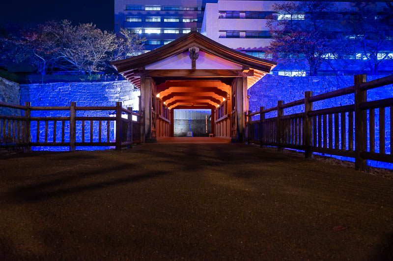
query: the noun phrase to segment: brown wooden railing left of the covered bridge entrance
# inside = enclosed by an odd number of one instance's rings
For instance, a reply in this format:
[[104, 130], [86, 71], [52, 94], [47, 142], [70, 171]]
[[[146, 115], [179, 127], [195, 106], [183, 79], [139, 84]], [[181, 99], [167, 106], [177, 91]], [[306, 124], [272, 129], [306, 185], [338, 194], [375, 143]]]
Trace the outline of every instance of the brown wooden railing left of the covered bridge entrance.
[[[31, 146], [69, 146], [69, 150], [74, 151], [76, 146], [115, 146], [119, 150], [124, 146], [129, 147], [141, 142], [142, 115], [134, 113], [132, 108], [122, 108], [121, 102], [116, 102], [116, 106], [101, 107], [77, 107], [76, 102], [71, 102], [70, 106], [50, 107], [34, 107], [30, 106], [29, 102], [26, 102], [25, 106], [0, 102], [0, 107], [20, 109], [23, 115], [0, 115], [2, 148], [17, 147], [29, 150]], [[69, 113], [64, 114], [69, 116], [31, 117], [32, 111], [45, 111], [49, 114], [68, 111]], [[108, 116], [77, 116], [78, 111], [114, 111], [115, 117], [111, 117], [109, 113]], [[126, 115], [127, 118], [124, 119], [122, 115]], [[133, 120], [132, 116], [137, 116], [137, 120]], [[113, 139], [110, 133], [111, 124], [112, 129], [115, 129]], [[35, 137], [32, 137], [31, 133], [35, 133]]]

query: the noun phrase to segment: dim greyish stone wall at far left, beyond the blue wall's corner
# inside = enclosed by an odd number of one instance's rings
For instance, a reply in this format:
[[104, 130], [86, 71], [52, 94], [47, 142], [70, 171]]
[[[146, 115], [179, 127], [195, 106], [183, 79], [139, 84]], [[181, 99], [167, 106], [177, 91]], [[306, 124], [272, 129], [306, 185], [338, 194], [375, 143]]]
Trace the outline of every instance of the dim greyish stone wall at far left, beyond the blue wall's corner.
[[[0, 77], [0, 102], [19, 104], [19, 83], [9, 81]], [[2, 115], [21, 115], [20, 110], [0, 107]]]

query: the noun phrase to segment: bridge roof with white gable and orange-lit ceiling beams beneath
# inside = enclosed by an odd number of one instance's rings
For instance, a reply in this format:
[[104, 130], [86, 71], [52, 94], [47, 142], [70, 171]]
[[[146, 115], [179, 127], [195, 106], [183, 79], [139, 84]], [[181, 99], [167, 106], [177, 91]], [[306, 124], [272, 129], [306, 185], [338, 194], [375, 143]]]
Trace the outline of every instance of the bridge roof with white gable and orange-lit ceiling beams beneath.
[[[195, 50], [196, 58], [190, 54]], [[158, 96], [169, 108], [210, 108], [228, 97], [234, 77], [247, 77], [250, 88], [277, 63], [225, 47], [192, 31], [167, 45], [111, 65], [137, 88], [140, 77], [152, 77]]]

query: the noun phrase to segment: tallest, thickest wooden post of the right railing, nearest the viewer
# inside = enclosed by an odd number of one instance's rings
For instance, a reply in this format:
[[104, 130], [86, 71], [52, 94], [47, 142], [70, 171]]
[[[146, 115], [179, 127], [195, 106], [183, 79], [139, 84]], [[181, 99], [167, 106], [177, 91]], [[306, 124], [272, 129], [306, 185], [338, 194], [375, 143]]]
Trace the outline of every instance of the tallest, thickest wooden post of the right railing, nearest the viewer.
[[[367, 160], [360, 154], [367, 151], [367, 111], [360, 108], [362, 102], [367, 101], [367, 91], [362, 91], [359, 84], [366, 81], [365, 74], [354, 75], [355, 84], [355, 169], [365, 171]], [[374, 122], [372, 122], [374, 124]], [[341, 130], [342, 131], [342, 130]], [[344, 130], [345, 131], [345, 130]], [[371, 144], [370, 144], [371, 145]], [[385, 149], [385, 148], [383, 148]]]

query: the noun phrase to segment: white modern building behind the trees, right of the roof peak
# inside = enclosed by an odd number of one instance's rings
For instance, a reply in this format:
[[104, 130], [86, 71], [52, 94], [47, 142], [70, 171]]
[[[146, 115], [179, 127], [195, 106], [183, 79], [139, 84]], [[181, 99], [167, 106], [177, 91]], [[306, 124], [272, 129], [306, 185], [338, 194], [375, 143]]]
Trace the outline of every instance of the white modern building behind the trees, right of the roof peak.
[[[353, 19], [349, 16], [351, 13], [351, 2], [326, 0], [333, 2], [334, 10], [341, 14], [342, 20]], [[273, 6], [276, 3], [294, 3], [299, 4], [299, 1], [272, 1], [272, 0], [218, 0], [215, 3], [206, 3], [205, 11], [203, 15], [203, 22], [201, 33], [210, 39], [223, 44], [227, 47], [241, 51], [243, 53], [259, 57], [270, 59], [267, 53], [264, 51], [272, 41], [272, 34], [267, 26], [268, 19], [272, 17], [277, 20], [304, 20], [306, 19], [305, 13], [299, 11], [295, 14], [280, 14], [274, 10]], [[376, 5], [378, 8], [378, 4]], [[384, 5], [380, 5], [384, 6]], [[381, 7], [380, 7], [381, 8]], [[383, 12], [383, 9], [381, 9]], [[335, 23], [338, 21], [333, 21]], [[335, 28], [335, 27], [332, 27]], [[357, 36], [344, 35], [343, 37], [355, 38]], [[393, 60], [392, 52], [393, 44], [389, 44], [381, 53], [378, 55], [384, 57], [390, 56], [389, 59]], [[365, 57], [360, 53], [353, 53], [348, 56], [345, 62], [345, 69], [349, 69], [349, 73], [353, 71], [362, 70], [364, 66], [362, 60]], [[326, 55], [326, 59], [332, 59], [334, 57]], [[392, 59], [391, 59], [392, 58]], [[380, 59], [380, 58], [378, 58]], [[327, 73], [332, 72], [332, 69], [324, 64]], [[279, 63], [273, 73], [285, 76], [306, 76], [304, 68], [307, 67], [307, 63], [303, 60], [298, 60], [297, 64], [294, 63]], [[339, 67], [339, 66], [337, 66]], [[391, 71], [390, 65], [386, 66], [385, 70]], [[299, 71], [298, 68], [303, 68]], [[352, 71], [351, 71], [352, 70]]]

